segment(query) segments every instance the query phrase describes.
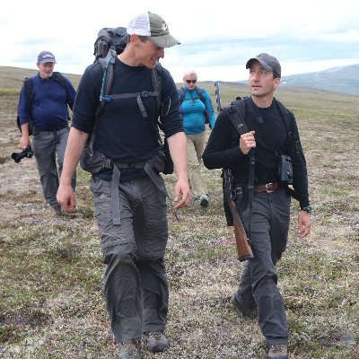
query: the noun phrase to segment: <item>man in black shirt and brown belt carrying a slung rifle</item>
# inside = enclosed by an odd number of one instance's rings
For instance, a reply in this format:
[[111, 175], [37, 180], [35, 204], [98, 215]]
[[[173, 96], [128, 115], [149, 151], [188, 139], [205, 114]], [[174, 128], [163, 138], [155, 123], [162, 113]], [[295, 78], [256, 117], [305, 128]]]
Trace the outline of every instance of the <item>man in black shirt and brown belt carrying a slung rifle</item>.
[[[208, 169], [231, 171], [235, 205], [253, 252], [232, 304], [245, 316], [258, 316], [267, 357], [286, 359], [289, 333], [285, 303], [276, 286], [276, 263], [287, 243], [291, 195], [300, 203], [299, 237], [311, 232], [307, 168], [293, 113], [274, 97], [281, 77], [276, 57], [259, 54], [246, 68], [251, 95], [221, 111], [203, 160]], [[234, 127], [231, 113], [240, 114], [243, 126]], [[240, 135], [239, 127], [248, 131]]]

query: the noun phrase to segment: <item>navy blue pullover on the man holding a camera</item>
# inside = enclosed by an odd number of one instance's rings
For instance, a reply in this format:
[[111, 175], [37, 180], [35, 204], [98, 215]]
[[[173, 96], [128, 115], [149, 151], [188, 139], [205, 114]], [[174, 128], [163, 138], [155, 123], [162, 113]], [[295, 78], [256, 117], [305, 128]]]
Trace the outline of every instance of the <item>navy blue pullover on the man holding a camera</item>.
[[[66, 90], [55, 80], [54, 75], [48, 79], [43, 79], [36, 74], [31, 77], [33, 84], [31, 118], [32, 124], [40, 131], [51, 131], [57, 127], [64, 126], [67, 122], [68, 111], [74, 106], [75, 91], [73, 85], [65, 78]], [[26, 98], [24, 86], [19, 98], [19, 114], [21, 125], [29, 122], [29, 106]]]

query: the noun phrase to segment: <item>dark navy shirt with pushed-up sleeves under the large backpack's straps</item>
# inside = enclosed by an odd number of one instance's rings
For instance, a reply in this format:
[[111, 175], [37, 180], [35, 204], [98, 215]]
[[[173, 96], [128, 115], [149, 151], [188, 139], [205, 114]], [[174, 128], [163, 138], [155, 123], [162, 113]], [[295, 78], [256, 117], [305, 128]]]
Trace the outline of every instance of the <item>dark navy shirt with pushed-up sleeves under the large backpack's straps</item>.
[[[113, 69], [111, 94], [153, 92], [151, 69], [144, 66], [127, 66], [118, 58]], [[183, 131], [180, 101], [171, 74], [162, 67], [160, 75], [162, 76], [160, 121], [165, 136], [169, 137]], [[95, 122], [101, 80], [101, 65], [97, 63], [88, 66], [82, 76], [74, 102], [72, 126], [89, 134], [92, 133]], [[98, 119], [94, 147], [115, 162], [144, 162], [152, 158], [159, 149], [156, 98], [144, 97], [141, 101], [147, 114], [145, 118], [136, 97], [131, 97], [107, 102]], [[127, 177], [126, 172], [134, 176]], [[136, 172], [139, 171], [136, 169], [121, 171], [121, 180], [136, 177]]]

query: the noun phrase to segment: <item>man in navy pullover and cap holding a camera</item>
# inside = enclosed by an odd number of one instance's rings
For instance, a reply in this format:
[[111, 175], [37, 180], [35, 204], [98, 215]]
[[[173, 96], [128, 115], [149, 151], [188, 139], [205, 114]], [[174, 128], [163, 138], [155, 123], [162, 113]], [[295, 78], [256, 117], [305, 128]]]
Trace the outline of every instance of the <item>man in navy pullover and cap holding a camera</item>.
[[[56, 215], [61, 215], [57, 203], [57, 188], [64, 162], [69, 134], [68, 109], [73, 109], [74, 86], [62, 74], [54, 73], [56, 59], [49, 51], [41, 51], [37, 66], [39, 74], [27, 79], [31, 82], [31, 96], [25, 84], [19, 99], [22, 130], [20, 146], [25, 150], [30, 144], [29, 125], [32, 126], [32, 147], [39, 170], [44, 197]], [[56, 163], [57, 155], [57, 163]], [[57, 171], [58, 165], [58, 171]], [[74, 173], [72, 186], [76, 186]]]

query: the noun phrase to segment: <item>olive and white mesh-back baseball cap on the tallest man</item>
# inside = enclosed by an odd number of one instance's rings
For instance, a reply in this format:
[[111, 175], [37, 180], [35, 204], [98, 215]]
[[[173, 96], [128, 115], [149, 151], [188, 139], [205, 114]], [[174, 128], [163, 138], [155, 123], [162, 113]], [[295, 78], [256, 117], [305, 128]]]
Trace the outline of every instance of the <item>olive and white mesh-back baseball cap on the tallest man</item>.
[[171, 46], [180, 45], [180, 41], [170, 34], [167, 22], [155, 13], [140, 13], [135, 16], [128, 23], [127, 34], [146, 36], [160, 48], [171, 48]]

